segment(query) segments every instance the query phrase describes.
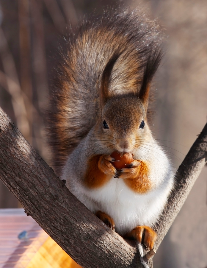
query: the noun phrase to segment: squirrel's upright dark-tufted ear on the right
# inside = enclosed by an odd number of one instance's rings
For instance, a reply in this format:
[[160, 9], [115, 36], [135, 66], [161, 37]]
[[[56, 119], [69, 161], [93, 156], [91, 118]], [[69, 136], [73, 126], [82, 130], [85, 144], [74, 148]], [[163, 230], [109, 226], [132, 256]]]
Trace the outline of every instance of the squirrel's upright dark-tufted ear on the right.
[[150, 83], [161, 62], [162, 55], [163, 55], [163, 52], [161, 51], [161, 49], [156, 48], [155, 51], [153, 51], [149, 55], [146, 66], [145, 66], [145, 71], [144, 71], [144, 75], [142, 79], [142, 86], [138, 93], [138, 97], [139, 99], [142, 100], [146, 109], [148, 107]]

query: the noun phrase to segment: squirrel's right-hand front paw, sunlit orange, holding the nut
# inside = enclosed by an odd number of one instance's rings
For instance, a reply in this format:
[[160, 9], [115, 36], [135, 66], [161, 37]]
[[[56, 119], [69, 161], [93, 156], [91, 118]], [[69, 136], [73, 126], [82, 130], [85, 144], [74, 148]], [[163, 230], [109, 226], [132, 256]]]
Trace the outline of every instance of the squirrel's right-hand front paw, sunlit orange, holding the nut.
[[118, 174], [122, 179], [137, 177], [139, 175], [140, 165], [140, 161], [134, 160], [130, 164], [126, 165], [127, 168], [119, 169]]

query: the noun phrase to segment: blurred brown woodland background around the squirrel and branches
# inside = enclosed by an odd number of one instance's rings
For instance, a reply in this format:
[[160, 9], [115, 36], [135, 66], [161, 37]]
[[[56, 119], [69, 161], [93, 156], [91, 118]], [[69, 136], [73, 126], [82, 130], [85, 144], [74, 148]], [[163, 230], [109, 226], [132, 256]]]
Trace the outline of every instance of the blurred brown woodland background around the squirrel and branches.
[[[43, 110], [58, 47], [79, 20], [107, 5], [147, 10], [166, 33], [153, 131], [176, 171], [207, 121], [206, 0], [0, 0], [0, 106], [50, 164]], [[207, 167], [159, 247], [155, 268], [207, 267], [206, 178]], [[18, 206], [0, 182], [0, 208]]]

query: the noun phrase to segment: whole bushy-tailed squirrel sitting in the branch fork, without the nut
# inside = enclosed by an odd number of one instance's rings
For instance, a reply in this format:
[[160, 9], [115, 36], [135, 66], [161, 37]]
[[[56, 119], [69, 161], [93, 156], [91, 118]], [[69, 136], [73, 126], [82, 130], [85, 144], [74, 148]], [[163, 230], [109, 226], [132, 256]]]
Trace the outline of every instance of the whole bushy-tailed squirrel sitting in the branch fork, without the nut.
[[[150, 250], [174, 177], [148, 123], [162, 38], [139, 10], [84, 20], [66, 40], [48, 112], [56, 174], [112, 230]], [[132, 162], [115, 168], [114, 151]]]

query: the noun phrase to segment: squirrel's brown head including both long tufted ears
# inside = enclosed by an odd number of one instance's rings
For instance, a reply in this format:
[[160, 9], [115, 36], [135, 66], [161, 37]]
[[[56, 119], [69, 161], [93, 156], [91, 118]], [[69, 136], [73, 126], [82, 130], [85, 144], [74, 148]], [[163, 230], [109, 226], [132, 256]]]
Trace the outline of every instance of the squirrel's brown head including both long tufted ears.
[[137, 92], [114, 94], [109, 91], [112, 69], [119, 55], [114, 54], [103, 71], [100, 89], [101, 115], [98, 132], [102, 147], [110, 153], [133, 152], [150, 134], [147, 124], [147, 108], [150, 82], [161, 60], [161, 52], [155, 50], [148, 57], [142, 85]]

